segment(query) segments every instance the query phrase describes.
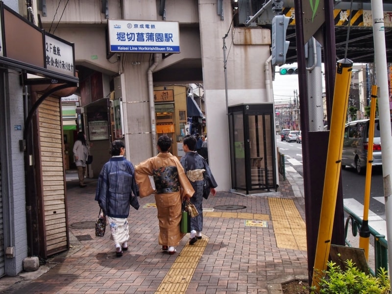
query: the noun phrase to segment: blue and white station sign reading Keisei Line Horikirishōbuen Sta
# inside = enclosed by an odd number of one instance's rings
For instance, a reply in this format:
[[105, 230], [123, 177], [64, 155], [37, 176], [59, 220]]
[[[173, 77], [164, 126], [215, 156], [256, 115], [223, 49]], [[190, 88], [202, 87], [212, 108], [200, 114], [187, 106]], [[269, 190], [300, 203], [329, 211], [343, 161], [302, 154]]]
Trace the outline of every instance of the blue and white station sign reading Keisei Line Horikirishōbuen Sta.
[[179, 53], [177, 22], [108, 20], [110, 52]]

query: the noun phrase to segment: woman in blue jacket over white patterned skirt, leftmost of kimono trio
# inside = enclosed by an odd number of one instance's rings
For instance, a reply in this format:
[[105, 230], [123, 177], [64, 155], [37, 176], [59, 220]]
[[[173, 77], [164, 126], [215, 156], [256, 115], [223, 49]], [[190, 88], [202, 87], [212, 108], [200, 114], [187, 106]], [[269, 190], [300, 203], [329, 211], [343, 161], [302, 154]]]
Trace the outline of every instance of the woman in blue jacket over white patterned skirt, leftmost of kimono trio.
[[130, 205], [139, 209], [139, 188], [135, 181], [135, 168], [125, 159], [123, 141], [113, 141], [110, 153], [112, 157], [104, 164], [98, 177], [95, 200], [110, 224], [111, 237], [114, 241], [117, 257], [128, 250], [128, 216]]

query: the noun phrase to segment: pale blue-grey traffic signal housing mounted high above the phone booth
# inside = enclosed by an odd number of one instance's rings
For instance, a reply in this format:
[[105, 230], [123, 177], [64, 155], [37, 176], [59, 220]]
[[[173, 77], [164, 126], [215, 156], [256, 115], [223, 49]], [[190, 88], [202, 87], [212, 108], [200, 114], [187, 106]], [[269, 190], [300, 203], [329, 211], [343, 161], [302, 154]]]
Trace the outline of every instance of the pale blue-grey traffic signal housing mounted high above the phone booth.
[[284, 15], [276, 15], [272, 19], [272, 65], [282, 65], [286, 62], [286, 53], [289, 49], [289, 41], [286, 41], [286, 30], [290, 18]]

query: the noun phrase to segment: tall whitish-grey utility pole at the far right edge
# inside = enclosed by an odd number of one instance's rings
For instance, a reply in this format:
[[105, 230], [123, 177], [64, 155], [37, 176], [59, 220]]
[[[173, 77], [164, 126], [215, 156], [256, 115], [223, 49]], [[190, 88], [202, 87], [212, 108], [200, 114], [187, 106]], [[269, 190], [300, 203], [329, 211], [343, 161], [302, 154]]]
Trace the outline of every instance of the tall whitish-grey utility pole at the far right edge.
[[387, 219], [388, 240], [388, 272], [392, 273], [392, 137], [391, 114], [389, 110], [387, 53], [385, 48], [384, 11], [382, 0], [371, 0], [373, 18], [374, 58], [376, 64], [378, 95], [378, 111], [380, 117], [380, 136], [383, 142], [381, 149], [383, 163], [383, 182], [385, 214]]

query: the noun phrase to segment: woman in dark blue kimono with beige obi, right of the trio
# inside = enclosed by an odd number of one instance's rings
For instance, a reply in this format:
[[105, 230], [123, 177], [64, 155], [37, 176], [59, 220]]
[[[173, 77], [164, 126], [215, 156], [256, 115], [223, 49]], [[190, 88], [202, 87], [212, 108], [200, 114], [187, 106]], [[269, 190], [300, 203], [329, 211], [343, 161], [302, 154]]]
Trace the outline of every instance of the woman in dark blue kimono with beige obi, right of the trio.
[[190, 199], [199, 212], [199, 214], [191, 218], [191, 236], [189, 244], [193, 245], [197, 240], [200, 240], [201, 231], [203, 230], [203, 197], [207, 198], [209, 191], [215, 196], [215, 188], [218, 186], [217, 182], [212, 175], [210, 167], [206, 163], [205, 159], [199, 155], [196, 149], [196, 138], [191, 135], [187, 135], [183, 140], [183, 149], [186, 152], [181, 157], [180, 163], [184, 168], [192, 187], [195, 190], [195, 195]]

